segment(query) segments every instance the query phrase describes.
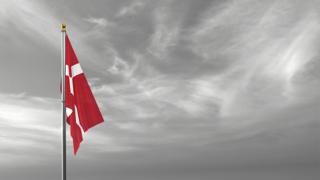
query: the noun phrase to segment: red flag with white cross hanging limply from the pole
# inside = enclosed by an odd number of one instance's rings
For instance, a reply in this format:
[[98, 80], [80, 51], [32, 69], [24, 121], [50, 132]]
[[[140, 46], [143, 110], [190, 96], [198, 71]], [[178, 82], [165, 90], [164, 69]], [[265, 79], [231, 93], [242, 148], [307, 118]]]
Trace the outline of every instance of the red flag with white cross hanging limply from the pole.
[[82, 135], [91, 127], [102, 123], [103, 117], [81, 69], [78, 58], [66, 35], [66, 114], [73, 139], [74, 154], [77, 153]]

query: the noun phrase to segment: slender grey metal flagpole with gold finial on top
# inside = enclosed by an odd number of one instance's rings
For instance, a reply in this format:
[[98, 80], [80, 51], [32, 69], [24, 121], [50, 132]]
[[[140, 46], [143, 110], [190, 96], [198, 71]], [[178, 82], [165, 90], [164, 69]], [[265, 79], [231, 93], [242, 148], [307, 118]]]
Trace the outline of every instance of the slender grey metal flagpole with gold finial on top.
[[65, 77], [66, 77], [66, 25], [61, 24], [61, 102], [62, 102], [62, 173], [61, 179], [67, 179], [66, 155], [66, 108], [65, 108]]

